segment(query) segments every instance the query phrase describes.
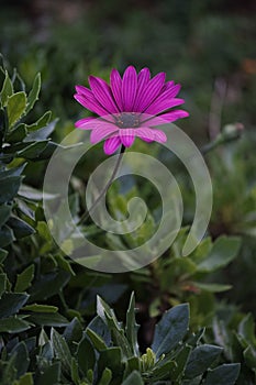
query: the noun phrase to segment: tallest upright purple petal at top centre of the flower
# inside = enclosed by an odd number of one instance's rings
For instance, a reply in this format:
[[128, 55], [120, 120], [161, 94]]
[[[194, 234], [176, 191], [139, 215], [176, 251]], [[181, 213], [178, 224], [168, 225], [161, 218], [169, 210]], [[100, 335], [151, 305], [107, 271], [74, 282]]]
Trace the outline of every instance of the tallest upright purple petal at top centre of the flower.
[[123, 110], [132, 111], [137, 92], [137, 73], [133, 66], [129, 66], [123, 75], [122, 100]]

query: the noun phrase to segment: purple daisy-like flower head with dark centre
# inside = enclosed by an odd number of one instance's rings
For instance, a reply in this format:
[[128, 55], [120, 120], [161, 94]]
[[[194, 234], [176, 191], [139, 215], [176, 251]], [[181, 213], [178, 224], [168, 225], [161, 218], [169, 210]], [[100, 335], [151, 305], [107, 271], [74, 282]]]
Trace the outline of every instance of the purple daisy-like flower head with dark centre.
[[148, 68], [138, 74], [129, 66], [121, 78], [113, 69], [110, 85], [103, 79], [89, 76], [90, 89], [76, 86], [75, 99], [88, 110], [100, 117], [78, 120], [75, 125], [81, 130], [92, 130], [90, 141], [104, 142], [104, 152], [113, 154], [120, 145], [130, 147], [135, 136], [145, 142], [166, 142], [160, 124], [189, 116], [183, 110], [171, 110], [185, 102], [176, 96], [180, 85], [165, 81], [166, 74], [159, 73], [151, 78]]

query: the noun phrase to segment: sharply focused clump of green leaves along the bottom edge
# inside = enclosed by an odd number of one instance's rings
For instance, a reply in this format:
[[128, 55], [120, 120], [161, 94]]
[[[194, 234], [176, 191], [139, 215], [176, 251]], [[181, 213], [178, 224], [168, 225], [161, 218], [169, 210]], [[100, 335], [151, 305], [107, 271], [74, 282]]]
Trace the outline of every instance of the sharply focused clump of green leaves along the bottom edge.
[[[126, 320], [134, 314], [134, 305], [132, 294]], [[207, 384], [214, 384], [214, 381], [215, 384], [216, 381], [223, 384], [225, 381], [225, 385], [235, 384], [240, 365], [223, 363], [221, 348], [203, 344], [203, 333], [197, 337], [188, 331], [188, 305], [174, 307], [163, 316], [156, 326], [152, 348], [147, 348], [145, 354], [137, 349], [137, 333], [133, 331], [131, 340], [129, 324], [123, 327], [113, 309], [100, 297], [97, 308], [97, 317], [84, 331], [80, 322], [74, 319], [63, 333], [52, 328], [48, 337], [42, 329], [37, 342], [34, 338], [22, 342], [14, 339], [11, 345], [3, 344], [1, 378], [9, 378], [12, 383], [23, 381], [22, 376], [26, 374], [27, 381], [33, 384], [33, 378], [40, 384], [47, 380], [49, 384], [57, 381], [59, 384], [78, 385], [159, 382], [181, 385], [199, 383], [202, 378]], [[105, 330], [109, 337], [103, 342]], [[36, 363], [32, 359], [35, 351]]]

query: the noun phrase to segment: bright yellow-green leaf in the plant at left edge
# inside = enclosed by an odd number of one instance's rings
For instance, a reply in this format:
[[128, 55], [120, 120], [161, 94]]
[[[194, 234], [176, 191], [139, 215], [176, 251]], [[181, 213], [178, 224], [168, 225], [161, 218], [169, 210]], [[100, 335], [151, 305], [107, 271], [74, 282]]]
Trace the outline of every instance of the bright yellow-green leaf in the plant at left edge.
[[23, 116], [26, 108], [25, 92], [20, 91], [8, 97], [7, 111], [10, 128]]

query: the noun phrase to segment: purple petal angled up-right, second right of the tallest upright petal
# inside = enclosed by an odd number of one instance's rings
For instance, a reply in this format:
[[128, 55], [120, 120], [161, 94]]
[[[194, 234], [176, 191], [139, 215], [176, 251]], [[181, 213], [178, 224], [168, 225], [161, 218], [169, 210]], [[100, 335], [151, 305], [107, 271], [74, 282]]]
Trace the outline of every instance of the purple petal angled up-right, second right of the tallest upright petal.
[[144, 95], [136, 107], [137, 111], [144, 112], [159, 95], [165, 82], [165, 73], [159, 73], [148, 81], [147, 86], [144, 88]]

